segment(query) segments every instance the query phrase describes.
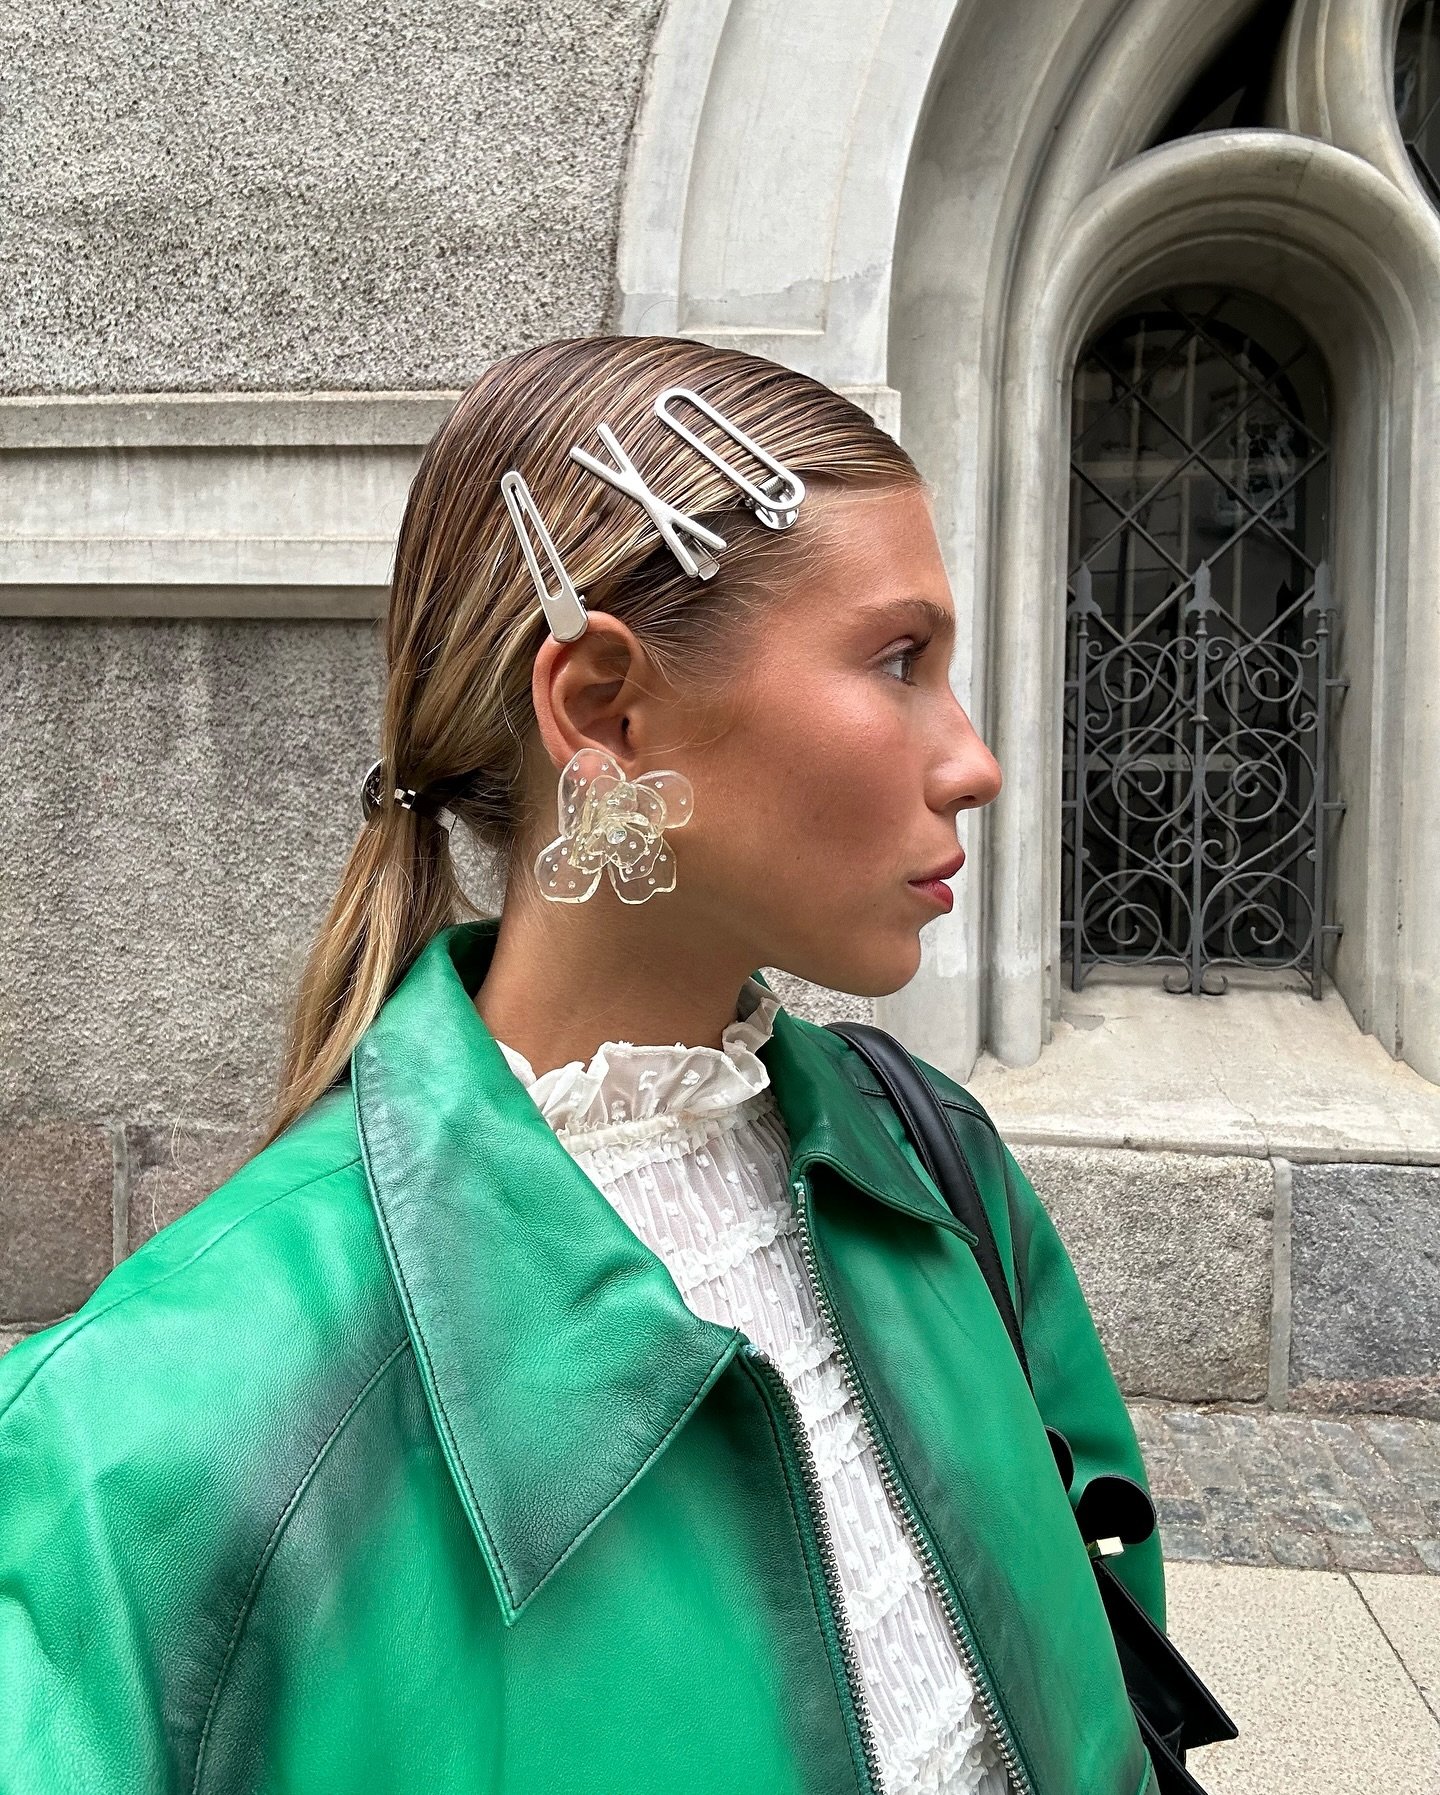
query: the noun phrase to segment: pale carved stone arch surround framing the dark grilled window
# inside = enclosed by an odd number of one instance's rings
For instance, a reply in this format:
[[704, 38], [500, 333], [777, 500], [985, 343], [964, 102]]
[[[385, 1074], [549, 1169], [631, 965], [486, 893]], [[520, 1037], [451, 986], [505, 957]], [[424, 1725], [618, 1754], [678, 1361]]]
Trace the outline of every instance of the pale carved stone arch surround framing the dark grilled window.
[[[1370, 698], [1384, 709], [1365, 792], [1347, 792], [1368, 849], [1350, 856], [1363, 919], [1347, 890], [1341, 989], [1363, 1027], [1440, 1079], [1440, 906], [1424, 912], [1440, 840], [1426, 849], [1397, 784], [1399, 768], [1426, 784], [1440, 768], [1435, 707], [1415, 702], [1426, 679], [1440, 689], [1440, 553], [1420, 504], [1440, 434], [1440, 223], [1395, 160], [1395, 5], [1298, 0], [1275, 90], [1286, 129], [1153, 151], [1253, 0], [672, 0], [664, 14], [616, 328], [804, 368], [898, 427], [935, 486], [953, 680], [1005, 792], [964, 820], [977, 876], [880, 1016], [961, 1077], [984, 1045], [1032, 1061], [1058, 996], [1074, 359], [1102, 311], [1194, 269], [1189, 230], [1210, 246], [1205, 276], [1225, 266], [1287, 303], [1338, 381], [1338, 479], [1348, 468], [1356, 490], [1336, 583], [1370, 603]], [[1354, 104], [1323, 74], [1343, 70], [1347, 20], [1372, 47]], [[1325, 131], [1345, 147], [1316, 142]], [[1374, 705], [1357, 682], [1347, 711]]]

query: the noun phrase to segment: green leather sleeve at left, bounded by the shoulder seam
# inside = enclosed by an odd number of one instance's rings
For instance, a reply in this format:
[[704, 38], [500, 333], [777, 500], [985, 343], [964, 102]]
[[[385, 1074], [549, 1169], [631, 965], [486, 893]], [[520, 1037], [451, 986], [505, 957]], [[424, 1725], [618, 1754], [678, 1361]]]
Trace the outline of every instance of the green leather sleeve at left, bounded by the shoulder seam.
[[312, 1440], [404, 1332], [347, 1116], [323, 1106], [0, 1359], [4, 1795], [190, 1790]]

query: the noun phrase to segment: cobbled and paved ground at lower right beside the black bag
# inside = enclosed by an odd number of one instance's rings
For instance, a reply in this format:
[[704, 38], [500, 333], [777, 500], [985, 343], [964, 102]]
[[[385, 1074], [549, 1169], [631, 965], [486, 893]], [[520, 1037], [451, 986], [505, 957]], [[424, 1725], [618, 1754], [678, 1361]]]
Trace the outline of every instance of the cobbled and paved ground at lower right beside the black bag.
[[1440, 1422], [1129, 1409], [1208, 1795], [1440, 1795]]

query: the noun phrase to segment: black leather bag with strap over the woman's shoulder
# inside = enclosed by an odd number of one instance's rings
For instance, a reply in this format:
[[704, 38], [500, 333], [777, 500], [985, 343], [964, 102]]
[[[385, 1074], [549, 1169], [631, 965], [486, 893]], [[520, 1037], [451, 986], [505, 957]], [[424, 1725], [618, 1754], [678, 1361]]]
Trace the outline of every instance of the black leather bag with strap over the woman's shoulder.
[[[950, 1113], [894, 1036], [860, 1021], [837, 1021], [830, 1027], [869, 1064], [905, 1124], [926, 1172], [959, 1221], [975, 1235], [975, 1258], [1005, 1323], [1025, 1382], [1034, 1388], [995, 1231]], [[1000, 1138], [989, 1120], [968, 1111], [966, 1122], [973, 1124], [968, 1134], [971, 1151], [1000, 1156]], [[1045, 1432], [1050, 1436], [1056, 1467], [1068, 1490], [1076, 1468], [1070, 1443], [1056, 1427], [1047, 1427]], [[1124, 1547], [1147, 1540], [1155, 1531], [1155, 1504], [1131, 1477], [1092, 1477], [1074, 1513], [1115, 1635], [1115, 1653], [1120, 1659], [1129, 1703], [1155, 1764], [1156, 1791], [1205, 1795], [1185, 1768], [1185, 1752], [1217, 1739], [1239, 1738], [1239, 1729], [1169, 1637], [1104, 1563], [1097, 1544], [1119, 1540]]]

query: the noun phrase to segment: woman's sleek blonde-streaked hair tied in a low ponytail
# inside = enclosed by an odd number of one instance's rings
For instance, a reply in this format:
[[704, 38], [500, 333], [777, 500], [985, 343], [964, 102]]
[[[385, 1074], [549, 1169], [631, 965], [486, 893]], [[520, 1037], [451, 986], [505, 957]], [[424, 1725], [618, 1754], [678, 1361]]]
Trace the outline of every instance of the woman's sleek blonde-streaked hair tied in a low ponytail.
[[[688, 386], [815, 485], [907, 486], [919, 474], [858, 406], [760, 355], [682, 337], [591, 336], [494, 363], [426, 449], [409, 488], [390, 591], [381, 756], [384, 802], [363, 824], [311, 948], [285, 1045], [275, 1140], [336, 1079], [390, 991], [445, 924], [478, 912], [447, 831], [391, 799], [397, 783], [447, 804], [508, 867], [522, 829], [521, 754], [546, 623], [499, 490], [515, 467], [576, 589], [643, 641], [666, 677], [704, 650], [724, 662], [738, 616], [794, 564], [790, 535], [760, 524], [736, 488], [654, 415]], [[600, 452], [605, 422], [666, 503], [725, 537], [720, 571], [684, 574], [643, 506], [571, 461]], [[686, 424], [747, 474], [709, 420]], [[603, 458], [603, 452], [601, 452]]]

